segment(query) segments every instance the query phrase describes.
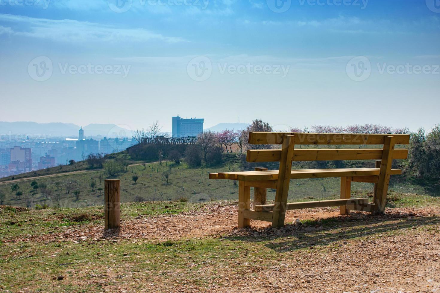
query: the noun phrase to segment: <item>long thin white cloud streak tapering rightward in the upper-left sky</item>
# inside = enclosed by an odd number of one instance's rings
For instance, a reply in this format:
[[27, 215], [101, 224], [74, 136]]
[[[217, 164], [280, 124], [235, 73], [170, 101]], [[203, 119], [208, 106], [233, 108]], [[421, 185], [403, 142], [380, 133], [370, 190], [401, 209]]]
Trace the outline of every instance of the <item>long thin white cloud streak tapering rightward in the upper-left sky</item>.
[[0, 14], [0, 21], [19, 24], [21, 29], [19, 31], [15, 29], [13, 32], [17, 36], [29, 36], [63, 42], [145, 42], [159, 40], [168, 43], [178, 43], [186, 41], [180, 37], [163, 36], [145, 29], [121, 29], [113, 25], [80, 22], [71, 19], [54, 20]]

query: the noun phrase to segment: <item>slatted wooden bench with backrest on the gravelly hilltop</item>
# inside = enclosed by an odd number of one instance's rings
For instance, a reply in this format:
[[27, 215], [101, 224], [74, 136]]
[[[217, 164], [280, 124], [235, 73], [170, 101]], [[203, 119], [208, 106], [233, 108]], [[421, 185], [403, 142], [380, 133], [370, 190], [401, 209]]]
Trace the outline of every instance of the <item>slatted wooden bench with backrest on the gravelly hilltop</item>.
[[[323, 206], [341, 206], [341, 214], [349, 210], [384, 213], [389, 179], [401, 174], [391, 169], [392, 159], [406, 159], [408, 150], [394, 148], [407, 145], [407, 134], [315, 134], [250, 132], [249, 144], [282, 145], [281, 149], [249, 149], [248, 162], [279, 162], [279, 170], [256, 168], [255, 171], [211, 173], [210, 179], [238, 180], [238, 227], [249, 225], [249, 219], [284, 226], [286, 210]], [[383, 148], [309, 148], [295, 145], [383, 145]], [[375, 168], [291, 170], [293, 161], [380, 160]], [[287, 203], [291, 179], [341, 177], [341, 199]], [[351, 182], [374, 183], [373, 203], [367, 198], [350, 198]], [[254, 210], [250, 209], [250, 188], [254, 188]], [[266, 204], [266, 188], [276, 188], [275, 203]]]

